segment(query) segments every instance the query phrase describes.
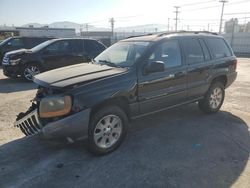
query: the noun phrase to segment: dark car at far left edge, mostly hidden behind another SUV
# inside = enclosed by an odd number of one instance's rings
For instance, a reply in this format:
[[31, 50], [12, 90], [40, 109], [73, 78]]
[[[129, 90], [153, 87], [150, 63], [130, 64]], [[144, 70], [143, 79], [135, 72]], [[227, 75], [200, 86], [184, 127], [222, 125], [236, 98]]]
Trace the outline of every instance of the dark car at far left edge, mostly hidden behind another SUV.
[[41, 44], [47, 40], [52, 39], [51, 37], [9, 37], [0, 43], [0, 62], [2, 62], [4, 54], [18, 50], [21, 48], [33, 48], [38, 44]]

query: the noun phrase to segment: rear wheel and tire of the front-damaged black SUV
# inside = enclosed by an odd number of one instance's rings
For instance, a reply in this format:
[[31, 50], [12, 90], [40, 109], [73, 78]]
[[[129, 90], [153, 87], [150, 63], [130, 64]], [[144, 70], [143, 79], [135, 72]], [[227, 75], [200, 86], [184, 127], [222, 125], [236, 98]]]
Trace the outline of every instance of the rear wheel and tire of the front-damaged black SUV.
[[199, 101], [201, 111], [211, 114], [220, 110], [225, 97], [225, 87], [221, 82], [214, 82], [208, 89], [205, 97]]

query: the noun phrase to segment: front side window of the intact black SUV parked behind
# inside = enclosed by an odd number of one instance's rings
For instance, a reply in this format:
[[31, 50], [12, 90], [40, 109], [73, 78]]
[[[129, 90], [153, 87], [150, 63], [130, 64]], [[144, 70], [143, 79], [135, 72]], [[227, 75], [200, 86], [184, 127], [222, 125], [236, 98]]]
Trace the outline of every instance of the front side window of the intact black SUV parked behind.
[[70, 41], [57, 41], [49, 45], [46, 50], [49, 53], [64, 53], [70, 51]]

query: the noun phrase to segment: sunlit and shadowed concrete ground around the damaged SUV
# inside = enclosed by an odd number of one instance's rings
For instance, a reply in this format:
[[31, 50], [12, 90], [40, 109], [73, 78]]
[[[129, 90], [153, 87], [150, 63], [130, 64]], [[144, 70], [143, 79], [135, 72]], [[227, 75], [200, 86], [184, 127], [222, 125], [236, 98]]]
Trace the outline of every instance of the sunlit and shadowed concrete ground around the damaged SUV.
[[0, 187], [250, 187], [250, 59], [238, 73], [219, 113], [190, 104], [137, 119], [103, 157], [84, 142], [24, 138], [13, 121], [35, 86], [0, 73]]

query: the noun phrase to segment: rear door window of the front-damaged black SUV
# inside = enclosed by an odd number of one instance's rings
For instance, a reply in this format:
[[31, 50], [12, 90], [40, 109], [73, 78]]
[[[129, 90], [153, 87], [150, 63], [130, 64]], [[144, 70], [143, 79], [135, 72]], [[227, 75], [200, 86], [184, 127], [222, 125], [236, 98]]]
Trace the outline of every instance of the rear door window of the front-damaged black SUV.
[[188, 64], [201, 63], [204, 61], [201, 45], [197, 39], [183, 39], [183, 47]]

